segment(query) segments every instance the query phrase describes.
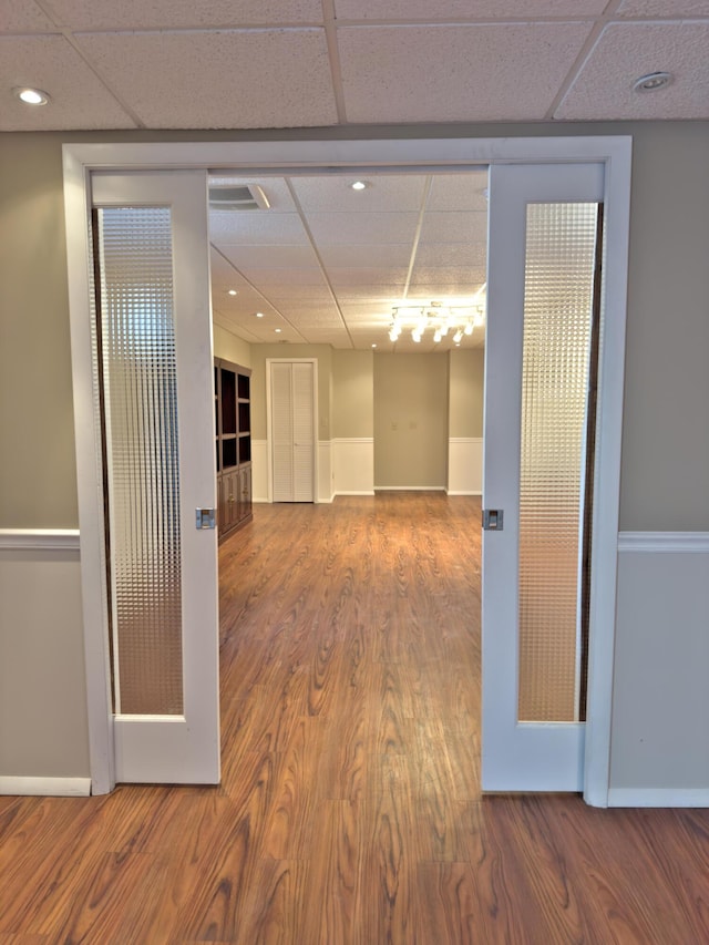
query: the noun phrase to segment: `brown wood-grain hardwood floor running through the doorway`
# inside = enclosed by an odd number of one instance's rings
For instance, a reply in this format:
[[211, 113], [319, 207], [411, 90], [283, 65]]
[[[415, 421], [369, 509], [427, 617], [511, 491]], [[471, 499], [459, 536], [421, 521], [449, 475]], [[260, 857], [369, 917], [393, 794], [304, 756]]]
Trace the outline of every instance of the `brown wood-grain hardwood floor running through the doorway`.
[[480, 504], [257, 506], [223, 783], [0, 798], [0, 945], [709, 942], [709, 812], [483, 798]]

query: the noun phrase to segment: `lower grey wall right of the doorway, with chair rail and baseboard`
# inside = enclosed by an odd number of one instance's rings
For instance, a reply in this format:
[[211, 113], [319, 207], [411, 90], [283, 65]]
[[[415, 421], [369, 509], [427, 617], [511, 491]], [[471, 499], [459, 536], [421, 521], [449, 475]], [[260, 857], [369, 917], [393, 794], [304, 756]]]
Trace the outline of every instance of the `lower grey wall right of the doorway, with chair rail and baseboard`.
[[623, 533], [608, 802], [709, 805], [709, 534]]

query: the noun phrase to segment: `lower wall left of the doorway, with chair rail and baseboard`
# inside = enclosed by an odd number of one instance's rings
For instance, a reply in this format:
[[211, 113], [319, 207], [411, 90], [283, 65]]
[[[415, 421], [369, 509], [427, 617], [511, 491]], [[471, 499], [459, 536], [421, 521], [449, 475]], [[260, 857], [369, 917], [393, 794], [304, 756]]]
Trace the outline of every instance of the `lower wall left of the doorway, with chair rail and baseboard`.
[[0, 792], [84, 791], [79, 533], [0, 532]]

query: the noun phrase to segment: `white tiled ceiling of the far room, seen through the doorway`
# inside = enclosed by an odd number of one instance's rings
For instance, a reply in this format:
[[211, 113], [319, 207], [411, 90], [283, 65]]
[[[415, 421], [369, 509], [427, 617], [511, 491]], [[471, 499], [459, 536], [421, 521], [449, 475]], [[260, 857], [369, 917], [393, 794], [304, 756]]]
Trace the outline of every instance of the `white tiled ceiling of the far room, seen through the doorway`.
[[[464, 306], [485, 281], [487, 170], [461, 174], [213, 177], [257, 184], [268, 209], [212, 210], [217, 325], [249, 342], [308, 342], [383, 351], [448, 350], [403, 332], [392, 307]], [[236, 290], [236, 296], [229, 295]], [[256, 316], [261, 312], [261, 318]], [[464, 315], [464, 312], [461, 312]], [[461, 348], [482, 347], [484, 329]]]

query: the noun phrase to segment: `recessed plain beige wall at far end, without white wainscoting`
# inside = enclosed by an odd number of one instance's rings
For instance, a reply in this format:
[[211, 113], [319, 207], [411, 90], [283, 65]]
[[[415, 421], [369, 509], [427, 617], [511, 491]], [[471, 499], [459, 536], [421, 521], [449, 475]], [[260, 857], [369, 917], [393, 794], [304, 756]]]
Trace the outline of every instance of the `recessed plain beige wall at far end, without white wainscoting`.
[[445, 489], [448, 355], [374, 355], [374, 489]]

